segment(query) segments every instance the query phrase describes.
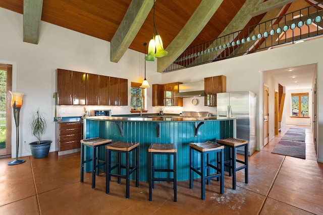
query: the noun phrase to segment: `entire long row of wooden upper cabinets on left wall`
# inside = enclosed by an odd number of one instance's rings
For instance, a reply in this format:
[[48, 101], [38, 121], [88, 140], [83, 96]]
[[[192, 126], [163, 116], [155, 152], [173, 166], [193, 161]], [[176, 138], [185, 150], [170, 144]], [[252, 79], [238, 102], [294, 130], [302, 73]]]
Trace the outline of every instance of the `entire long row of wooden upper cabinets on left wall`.
[[57, 69], [58, 105], [128, 105], [128, 80]]

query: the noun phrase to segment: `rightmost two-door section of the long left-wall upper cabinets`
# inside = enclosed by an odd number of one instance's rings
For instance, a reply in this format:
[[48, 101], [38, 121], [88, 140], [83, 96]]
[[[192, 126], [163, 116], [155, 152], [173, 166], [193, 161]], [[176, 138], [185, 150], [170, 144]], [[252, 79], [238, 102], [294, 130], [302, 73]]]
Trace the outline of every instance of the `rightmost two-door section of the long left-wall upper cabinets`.
[[109, 105], [128, 105], [128, 80], [110, 77], [109, 82]]

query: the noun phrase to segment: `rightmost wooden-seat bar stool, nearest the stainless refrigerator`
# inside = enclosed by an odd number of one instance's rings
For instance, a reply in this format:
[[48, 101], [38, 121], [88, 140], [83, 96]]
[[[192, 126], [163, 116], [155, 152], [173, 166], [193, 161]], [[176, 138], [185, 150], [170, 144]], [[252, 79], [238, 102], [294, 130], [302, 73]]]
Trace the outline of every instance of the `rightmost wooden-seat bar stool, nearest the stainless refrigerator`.
[[[248, 141], [244, 139], [226, 138], [218, 139], [217, 142], [225, 147], [229, 147], [229, 159], [225, 161], [225, 166], [229, 168], [229, 176], [232, 177], [232, 189], [236, 189], [236, 172], [244, 169], [244, 180], [248, 184]], [[244, 147], [244, 161], [237, 159], [237, 148]], [[237, 162], [243, 164], [237, 167]]]

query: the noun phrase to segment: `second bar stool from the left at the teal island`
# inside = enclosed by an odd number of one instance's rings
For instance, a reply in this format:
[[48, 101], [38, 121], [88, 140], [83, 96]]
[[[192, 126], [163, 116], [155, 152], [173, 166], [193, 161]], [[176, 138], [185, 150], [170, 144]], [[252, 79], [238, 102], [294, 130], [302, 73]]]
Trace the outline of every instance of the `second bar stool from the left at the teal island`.
[[[130, 153], [135, 153], [135, 164], [130, 166]], [[118, 153], [118, 163], [114, 166], [111, 164], [111, 152]], [[126, 155], [126, 164], [121, 163], [121, 153]], [[133, 153], [132, 153], [133, 154]], [[110, 193], [110, 179], [111, 176], [118, 178], [118, 184], [121, 183], [121, 178], [126, 179], [126, 198], [129, 198], [129, 185], [130, 185], [130, 175], [136, 172], [136, 187], [139, 187], [139, 143], [123, 142], [117, 141], [110, 145], [105, 146], [105, 162], [106, 162], [106, 179], [105, 179], [105, 193]], [[112, 171], [118, 168], [117, 173], [112, 173]], [[126, 174], [121, 174], [121, 169], [126, 170]]]

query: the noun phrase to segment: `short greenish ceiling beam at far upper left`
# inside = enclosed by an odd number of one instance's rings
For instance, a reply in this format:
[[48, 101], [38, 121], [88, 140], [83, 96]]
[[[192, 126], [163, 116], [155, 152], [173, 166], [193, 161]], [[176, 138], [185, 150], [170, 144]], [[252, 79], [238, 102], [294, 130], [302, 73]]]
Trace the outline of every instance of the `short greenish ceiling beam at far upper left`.
[[43, 0], [24, 0], [24, 42], [38, 44]]

